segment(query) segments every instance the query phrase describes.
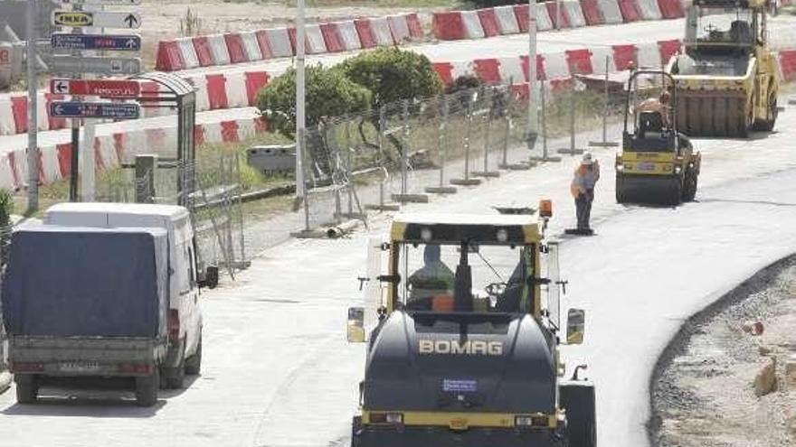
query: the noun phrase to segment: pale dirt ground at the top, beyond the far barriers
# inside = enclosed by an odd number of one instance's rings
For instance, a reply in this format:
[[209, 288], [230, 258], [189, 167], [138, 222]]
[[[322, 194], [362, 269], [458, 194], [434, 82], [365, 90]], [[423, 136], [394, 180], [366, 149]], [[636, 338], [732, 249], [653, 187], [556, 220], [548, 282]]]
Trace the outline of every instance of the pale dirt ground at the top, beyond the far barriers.
[[[380, 17], [405, 12], [428, 14], [433, 10], [455, 6], [456, 2], [444, 0], [417, 3], [408, 0], [396, 2], [308, 0], [307, 5], [307, 22], [319, 23], [356, 17]], [[185, 23], [185, 15], [189, 8], [199, 20], [198, 29], [194, 31], [194, 34], [273, 28], [292, 24], [296, 18], [295, 3], [284, 0], [143, 0], [138, 8], [143, 17], [141, 28], [144, 39], [143, 58], [147, 66], [154, 65], [158, 41], [183, 36], [180, 24]]]

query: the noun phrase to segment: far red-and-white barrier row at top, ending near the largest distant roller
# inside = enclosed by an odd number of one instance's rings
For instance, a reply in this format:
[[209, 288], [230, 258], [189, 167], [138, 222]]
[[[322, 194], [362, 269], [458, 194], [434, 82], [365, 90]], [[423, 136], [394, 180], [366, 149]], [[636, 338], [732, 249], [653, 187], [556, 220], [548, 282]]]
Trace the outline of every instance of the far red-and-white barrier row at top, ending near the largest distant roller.
[[[561, 11], [557, 10], [561, 5]], [[576, 28], [639, 20], [683, 17], [682, 0], [560, 0], [536, 4], [539, 31]], [[560, 23], [559, 23], [560, 22]], [[475, 11], [446, 11], [432, 16], [437, 39], [455, 41], [480, 39], [528, 31], [528, 6], [498, 6]]]

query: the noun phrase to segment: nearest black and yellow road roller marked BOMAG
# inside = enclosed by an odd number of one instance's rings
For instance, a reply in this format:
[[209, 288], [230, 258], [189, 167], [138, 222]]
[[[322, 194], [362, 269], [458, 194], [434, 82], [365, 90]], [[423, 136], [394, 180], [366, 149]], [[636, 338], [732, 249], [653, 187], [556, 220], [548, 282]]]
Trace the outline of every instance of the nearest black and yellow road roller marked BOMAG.
[[584, 312], [560, 329], [565, 282], [545, 224], [398, 215], [388, 242], [371, 241], [365, 307], [348, 313], [349, 340], [367, 347], [352, 446], [595, 444], [594, 388], [559, 352], [583, 341]]

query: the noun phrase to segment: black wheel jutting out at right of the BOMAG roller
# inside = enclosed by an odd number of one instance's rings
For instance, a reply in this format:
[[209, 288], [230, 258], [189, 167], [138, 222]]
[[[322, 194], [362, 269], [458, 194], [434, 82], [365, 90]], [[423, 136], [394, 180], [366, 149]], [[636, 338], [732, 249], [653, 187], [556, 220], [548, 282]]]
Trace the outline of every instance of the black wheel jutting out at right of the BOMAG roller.
[[566, 438], [569, 447], [597, 445], [597, 419], [594, 386], [572, 383], [560, 388], [561, 405], [566, 410]]

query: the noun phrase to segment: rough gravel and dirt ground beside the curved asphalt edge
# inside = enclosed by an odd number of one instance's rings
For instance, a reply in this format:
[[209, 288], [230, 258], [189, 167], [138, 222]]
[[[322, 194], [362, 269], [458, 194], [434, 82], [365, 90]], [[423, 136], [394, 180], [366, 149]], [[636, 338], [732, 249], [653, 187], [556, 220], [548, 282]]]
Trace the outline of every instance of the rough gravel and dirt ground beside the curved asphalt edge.
[[[763, 335], [743, 331], [763, 322]], [[773, 265], [697, 315], [670, 345], [653, 380], [650, 436], [662, 447], [796, 445], [796, 389], [784, 382], [796, 355], [796, 256]], [[777, 359], [778, 389], [754, 394], [753, 381]], [[791, 386], [791, 388], [793, 388]]]

